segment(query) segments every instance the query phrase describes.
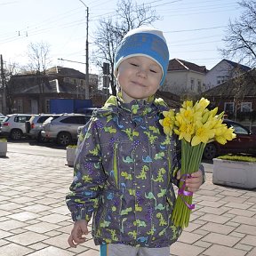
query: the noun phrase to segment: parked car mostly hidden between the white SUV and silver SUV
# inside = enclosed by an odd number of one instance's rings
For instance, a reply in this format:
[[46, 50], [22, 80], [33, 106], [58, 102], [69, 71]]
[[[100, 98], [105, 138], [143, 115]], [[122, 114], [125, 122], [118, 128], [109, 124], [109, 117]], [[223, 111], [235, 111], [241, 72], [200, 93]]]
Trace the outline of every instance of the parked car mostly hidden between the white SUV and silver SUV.
[[28, 137], [33, 140], [37, 141], [46, 141], [45, 137], [42, 137], [41, 132], [43, 130], [43, 123], [49, 117], [57, 118], [60, 115], [53, 115], [53, 114], [39, 114], [33, 115], [30, 119], [26, 122], [26, 133]]

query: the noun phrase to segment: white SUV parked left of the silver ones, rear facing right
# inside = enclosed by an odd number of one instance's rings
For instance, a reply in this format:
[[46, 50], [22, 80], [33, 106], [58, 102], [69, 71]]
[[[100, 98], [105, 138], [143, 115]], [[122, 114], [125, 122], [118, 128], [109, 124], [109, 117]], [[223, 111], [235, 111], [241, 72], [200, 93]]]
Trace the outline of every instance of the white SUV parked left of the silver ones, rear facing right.
[[7, 115], [1, 124], [0, 134], [12, 140], [20, 140], [26, 134], [25, 124], [31, 116], [30, 114]]

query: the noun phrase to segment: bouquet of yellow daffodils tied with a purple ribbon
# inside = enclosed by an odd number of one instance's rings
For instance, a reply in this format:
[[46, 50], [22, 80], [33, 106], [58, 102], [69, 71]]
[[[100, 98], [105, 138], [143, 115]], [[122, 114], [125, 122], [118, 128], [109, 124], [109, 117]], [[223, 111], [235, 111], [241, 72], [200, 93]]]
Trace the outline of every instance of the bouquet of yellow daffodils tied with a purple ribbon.
[[193, 193], [187, 191], [185, 179], [198, 171], [206, 143], [217, 140], [225, 144], [236, 137], [232, 127], [222, 124], [224, 112], [217, 115], [218, 108], [209, 110], [209, 103], [204, 98], [194, 105], [192, 100], [184, 101], [179, 113], [175, 114], [172, 109], [164, 111], [164, 119], [159, 121], [165, 134], [171, 136], [175, 132], [181, 140], [181, 178], [172, 212], [172, 221], [180, 228], [188, 227], [190, 212], [195, 208], [192, 204]]

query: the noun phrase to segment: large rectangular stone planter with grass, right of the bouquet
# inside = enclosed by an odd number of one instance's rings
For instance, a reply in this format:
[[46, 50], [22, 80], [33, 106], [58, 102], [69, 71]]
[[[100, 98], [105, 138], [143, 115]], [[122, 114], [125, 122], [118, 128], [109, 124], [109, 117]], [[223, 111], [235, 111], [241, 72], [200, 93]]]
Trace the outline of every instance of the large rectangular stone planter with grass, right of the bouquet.
[[212, 183], [256, 188], [256, 163], [213, 159]]

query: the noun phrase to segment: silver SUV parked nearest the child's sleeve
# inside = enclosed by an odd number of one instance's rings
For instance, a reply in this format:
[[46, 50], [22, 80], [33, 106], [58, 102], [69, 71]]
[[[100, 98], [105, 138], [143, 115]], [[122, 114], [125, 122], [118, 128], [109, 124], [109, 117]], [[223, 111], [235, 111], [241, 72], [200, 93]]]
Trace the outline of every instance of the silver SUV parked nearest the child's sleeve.
[[62, 114], [55, 119], [49, 117], [43, 124], [42, 137], [67, 146], [77, 140], [78, 126], [86, 124], [90, 118], [83, 114]]

